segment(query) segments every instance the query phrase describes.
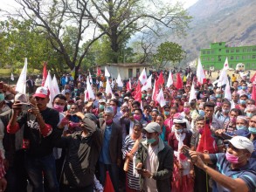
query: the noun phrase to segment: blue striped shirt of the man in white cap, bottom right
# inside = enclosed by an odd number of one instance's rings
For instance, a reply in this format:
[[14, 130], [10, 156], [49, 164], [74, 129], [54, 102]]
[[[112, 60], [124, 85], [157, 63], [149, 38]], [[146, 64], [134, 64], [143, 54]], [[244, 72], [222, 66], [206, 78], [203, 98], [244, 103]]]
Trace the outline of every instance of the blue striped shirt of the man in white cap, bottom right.
[[[225, 153], [210, 154], [210, 158], [211, 162], [216, 164], [216, 169], [220, 174], [231, 177], [232, 179], [242, 179], [244, 182], [246, 182], [249, 191], [255, 191], [256, 171], [250, 167], [249, 163], [247, 163], [246, 166], [242, 168], [232, 169], [231, 163], [225, 158]], [[225, 189], [225, 187], [220, 185], [218, 182], [216, 182], [216, 186], [214, 186], [214, 188], [216, 189], [213, 189], [213, 191], [218, 192], [230, 191], [229, 189]]]

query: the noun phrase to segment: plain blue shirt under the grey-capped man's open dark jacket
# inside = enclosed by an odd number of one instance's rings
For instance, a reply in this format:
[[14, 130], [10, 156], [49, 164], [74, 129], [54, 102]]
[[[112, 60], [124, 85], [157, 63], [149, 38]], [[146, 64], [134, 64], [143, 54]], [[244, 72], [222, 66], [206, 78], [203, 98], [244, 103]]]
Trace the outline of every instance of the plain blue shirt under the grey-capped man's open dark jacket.
[[100, 152], [100, 162], [103, 162], [104, 164], [111, 164], [110, 154], [109, 154], [109, 141], [111, 137], [112, 127], [106, 126], [105, 132], [104, 132], [104, 139], [103, 139], [103, 145]]

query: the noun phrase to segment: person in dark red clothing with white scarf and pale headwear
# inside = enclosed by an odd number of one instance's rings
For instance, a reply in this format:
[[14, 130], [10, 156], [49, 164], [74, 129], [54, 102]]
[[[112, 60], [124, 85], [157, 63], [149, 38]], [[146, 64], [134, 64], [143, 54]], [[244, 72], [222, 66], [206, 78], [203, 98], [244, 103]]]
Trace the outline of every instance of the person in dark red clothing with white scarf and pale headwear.
[[168, 136], [168, 144], [174, 150], [174, 173], [171, 182], [172, 191], [190, 192], [193, 191], [194, 171], [193, 166], [182, 153], [183, 145], [190, 146], [192, 133], [188, 131], [188, 120], [182, 113], [174, 115], [174, 131]]

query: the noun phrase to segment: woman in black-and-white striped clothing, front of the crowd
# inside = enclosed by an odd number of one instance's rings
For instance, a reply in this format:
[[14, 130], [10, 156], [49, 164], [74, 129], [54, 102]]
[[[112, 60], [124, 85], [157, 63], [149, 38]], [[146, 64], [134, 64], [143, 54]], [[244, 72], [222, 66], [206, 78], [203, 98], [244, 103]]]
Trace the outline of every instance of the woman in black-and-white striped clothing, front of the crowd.
[[122, 157], [124, 162], [124, 171], [127, 173], [127, 192], [140, 191], [140, 178], [135, 171], [135, 154], [142, 140], [142, 123], [135, 120], [132, 134], [128, 134], [122, 145]]

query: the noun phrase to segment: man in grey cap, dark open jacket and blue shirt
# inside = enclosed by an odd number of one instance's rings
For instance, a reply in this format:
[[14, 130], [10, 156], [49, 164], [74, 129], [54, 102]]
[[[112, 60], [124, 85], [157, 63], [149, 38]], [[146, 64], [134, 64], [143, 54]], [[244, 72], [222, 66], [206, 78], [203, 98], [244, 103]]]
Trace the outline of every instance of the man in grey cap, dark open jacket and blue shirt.
[[121, 166], [121, 126], [114, 122], [113, 106], [106, 106], [103, 118], [99, 119], [103, 135], [103, 145], [100, 151], [100, 183], [104, 186], [106, 171], [109, 171], [114, 191], [119, 191], [119, 167]]

